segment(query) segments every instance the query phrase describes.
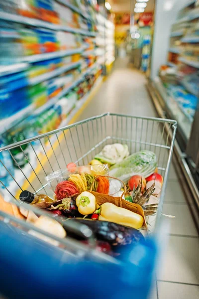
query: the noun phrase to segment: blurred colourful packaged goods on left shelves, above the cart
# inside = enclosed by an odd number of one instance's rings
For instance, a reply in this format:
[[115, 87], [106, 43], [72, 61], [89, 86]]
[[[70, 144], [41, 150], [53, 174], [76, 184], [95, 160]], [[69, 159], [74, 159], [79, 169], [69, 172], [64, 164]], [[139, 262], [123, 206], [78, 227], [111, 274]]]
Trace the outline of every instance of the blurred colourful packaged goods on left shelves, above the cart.
[[[95, 67], [94, 73], [93, 67], [101, 52], [95, 51], [96, 43], [90, 34], [97, 29], [97, 11], [87, 1], [9, 0], [0, 4], [0, 12], [0, 64], [7, 66], [15, 63], [14, 70], [17, 65], [26, 62], [24, 68], [18, 66], [11, 75], [2, 76], [3, 69], [1, 71], [1, 124], [5, 125], [6, 131], [18, 124], [17, 121], [24, 121], [31, 116], [28, 121], [33, 131], [38, 132], [33, 122], [35, 117], [47, 113], [76, 84], [78, 99], [82, 99], [100, 74], [100, 69]], [[105, 26], [105, 17], [101, 17]], [[80, 48], [82, 52], [93, 52], [87, 59], [80, 61]], [[79, 52], [73, 54], [75, 49], [79, 49]], [[82, 61], [84, 66], [80, 71]], [[73, 72], [68, 73], [67, 69], [73, 69]], [[17, 101], [13, 101], [13, 97]], [[9, 105], [11, 102], [14, 104]], [[43, 115], [42, 118], [45, 119]], [[25, 128], [23, 130], [25, 132]]]

